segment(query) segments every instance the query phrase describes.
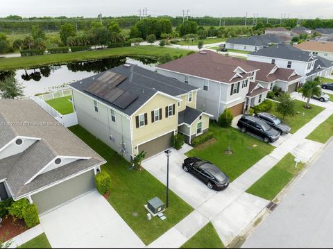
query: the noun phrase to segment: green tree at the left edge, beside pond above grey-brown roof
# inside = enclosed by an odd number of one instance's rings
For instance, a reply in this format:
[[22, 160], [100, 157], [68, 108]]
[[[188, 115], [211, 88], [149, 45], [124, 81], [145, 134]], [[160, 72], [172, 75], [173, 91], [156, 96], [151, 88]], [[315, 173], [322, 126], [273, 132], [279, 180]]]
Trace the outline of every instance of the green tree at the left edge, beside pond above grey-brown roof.
[[6, 77], [0, 81], [0, 96], [1, 98], [16, 98], [23, 96], [23, 89], [21, 83], [18, 83], [14, 74]]

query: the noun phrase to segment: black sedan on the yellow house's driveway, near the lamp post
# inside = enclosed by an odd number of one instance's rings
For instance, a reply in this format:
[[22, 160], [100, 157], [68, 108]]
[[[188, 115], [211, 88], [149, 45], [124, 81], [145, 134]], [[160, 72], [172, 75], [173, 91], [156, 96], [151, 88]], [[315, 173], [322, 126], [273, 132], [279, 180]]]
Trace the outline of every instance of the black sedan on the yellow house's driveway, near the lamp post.
[[221, 169], [198, 157], [185, 159], [182, 169], [201, 180], [209, 189], [223, 190], [230, 184], [230, 179]]

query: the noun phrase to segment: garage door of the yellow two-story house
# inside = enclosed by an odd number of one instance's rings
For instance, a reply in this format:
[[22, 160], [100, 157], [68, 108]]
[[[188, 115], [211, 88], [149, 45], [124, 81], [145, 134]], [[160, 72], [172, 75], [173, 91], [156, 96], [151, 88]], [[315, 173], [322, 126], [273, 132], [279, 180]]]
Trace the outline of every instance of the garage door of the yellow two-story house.
[[162, 151], [171, 148], [172, 137], [173, 137], [173, 132], [170, 132], [167, 135], [158, 137], [157, 139], [139, 145], [139, 153], [145, 151], [147, 153], [146, 158], [161, 153]]

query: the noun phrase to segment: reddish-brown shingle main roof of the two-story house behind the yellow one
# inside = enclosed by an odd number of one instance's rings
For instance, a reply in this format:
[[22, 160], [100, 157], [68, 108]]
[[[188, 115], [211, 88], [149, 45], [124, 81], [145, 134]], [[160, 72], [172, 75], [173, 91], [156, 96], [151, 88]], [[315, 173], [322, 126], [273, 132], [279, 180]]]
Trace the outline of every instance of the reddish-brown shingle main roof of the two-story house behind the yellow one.
[[[248, 73], [257, 70], [257, 68], [247, 65], [245, 60], [237, 60], [210, 50], [187, 55], [184, 58], [157, 66], [157, 68], [223, 83], [234, 83], [244, 80], [250, 76]], [[246, 73], [240, 74], [242, 78], [234, 78], [237, 68], [246, 71]]]

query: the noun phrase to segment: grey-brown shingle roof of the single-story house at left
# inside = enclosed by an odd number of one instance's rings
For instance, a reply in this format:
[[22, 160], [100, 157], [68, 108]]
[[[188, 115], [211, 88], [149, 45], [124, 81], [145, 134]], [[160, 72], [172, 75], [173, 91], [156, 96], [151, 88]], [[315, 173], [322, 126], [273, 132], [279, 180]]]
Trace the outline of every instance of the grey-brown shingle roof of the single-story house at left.
[[[22, 153], [5, 157], [0, 160], [0, 180], [6, 179], [8, 187], [14, 198], [20, 198], [27, 194], [24, 189], [27, 186], [38, 184], [37, 178], [26, 184], [57, 156], [90, 157], [89, 160], [78, 160], [76, 164], [83, 163], [85, 169], [92, 168], [97, 164], [105, 163], [105, 160], [94, 152], [76, 135], [53, 119], [47, 112], [31, 100], [5, 100], [0, 99], [1, 126], [0, 144], [8, 144], [15, 137], [39, 137], [31, 146]], [[16, 125], [10, 126], [10, 123]], [[26, 123], [26, 125], [24, 125]], [[3, 132], [5, 131], [5, 132]], [[4, 134], [4, 136], [2, 136]], [[78, 168], [69, 172], [67, 165], [60, 166], [58, 172], [62, 172], [64, 178], [78, 173]], [[46, 187], [59, 180], [59, 174], [51, 170], [48, 173], [49, 180], [40, 184]], [[44, 175], [44, 173], [42, 173]], [[31, 187], [29, 191], [36, 191]]]

